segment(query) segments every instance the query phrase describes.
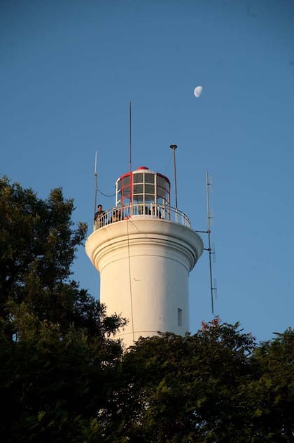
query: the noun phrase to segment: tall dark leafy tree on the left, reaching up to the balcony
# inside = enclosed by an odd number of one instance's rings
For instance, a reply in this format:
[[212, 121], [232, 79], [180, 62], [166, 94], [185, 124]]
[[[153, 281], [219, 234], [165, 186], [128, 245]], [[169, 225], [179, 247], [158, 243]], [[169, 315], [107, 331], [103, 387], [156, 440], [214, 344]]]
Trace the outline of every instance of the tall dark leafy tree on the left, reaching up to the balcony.
[[42, 200], [0, 180], [2, 442], [90, 441], [116, 381], [122, 348], [106, 336], [124, 321], [70, 279], [87, 230], [73, 209], [61, 189]]

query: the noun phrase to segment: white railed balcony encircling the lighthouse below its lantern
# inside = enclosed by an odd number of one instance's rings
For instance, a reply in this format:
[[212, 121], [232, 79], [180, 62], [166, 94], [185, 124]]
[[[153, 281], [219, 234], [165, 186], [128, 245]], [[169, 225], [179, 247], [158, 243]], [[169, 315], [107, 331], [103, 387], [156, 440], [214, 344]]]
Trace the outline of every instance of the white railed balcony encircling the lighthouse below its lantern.
[[179, 225], [190, 227], [190, 220], [179, 209], [172, 206], [163, 206], [155, 203], [127, 204], [125, 206], [115, 206], [104, 211], [104, 213], [94, 221], [94, 231], [101, 229], [111, 223], [119, 223], [123, 220], [141, 218], [145, 220], [165, 220]]

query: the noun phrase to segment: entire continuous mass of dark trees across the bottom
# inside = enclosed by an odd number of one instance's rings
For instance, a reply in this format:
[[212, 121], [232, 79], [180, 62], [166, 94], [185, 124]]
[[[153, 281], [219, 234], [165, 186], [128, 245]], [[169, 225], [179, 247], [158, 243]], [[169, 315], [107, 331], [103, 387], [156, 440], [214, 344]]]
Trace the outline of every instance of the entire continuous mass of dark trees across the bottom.
[[0, 180], [1, 442], [293, 442], [294, 331], [257, 344], [216, 317], [123, 353], [125, 321], [71, 279], [73, 209]]

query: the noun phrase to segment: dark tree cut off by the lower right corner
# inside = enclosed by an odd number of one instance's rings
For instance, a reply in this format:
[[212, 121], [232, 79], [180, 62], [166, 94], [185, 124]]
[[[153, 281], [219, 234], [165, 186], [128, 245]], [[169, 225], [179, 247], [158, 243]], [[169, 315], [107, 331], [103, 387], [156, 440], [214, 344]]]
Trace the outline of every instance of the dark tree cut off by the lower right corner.
[[256, 434], [270, 442], [294, 441], [294, 331], [275, 333], [255, 348], [258, 368], [248, 389]]

